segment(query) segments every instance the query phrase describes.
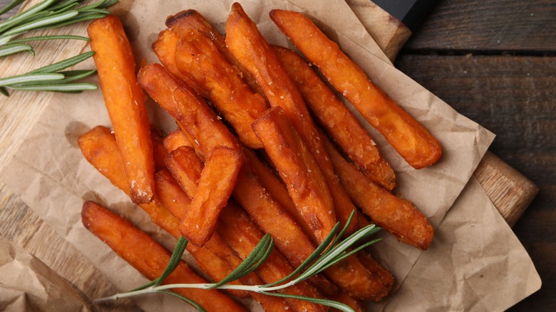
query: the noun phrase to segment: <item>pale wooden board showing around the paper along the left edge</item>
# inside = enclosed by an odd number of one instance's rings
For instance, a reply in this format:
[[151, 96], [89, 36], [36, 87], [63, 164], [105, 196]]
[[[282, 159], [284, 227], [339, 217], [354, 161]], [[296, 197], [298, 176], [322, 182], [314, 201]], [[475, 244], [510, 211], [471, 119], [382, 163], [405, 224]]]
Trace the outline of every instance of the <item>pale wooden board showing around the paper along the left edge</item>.
[[[25, 7], [38, 3], [27, 1]], [[0, 0], [4, 7], [9, 0]], [[2, 16], [2, 20], [16, 13], [16, 9]], [[73, 34], [86, 36], [86, 24], [55, 30], [36, 31], [38, 34]], [[19, 53], [0, 59], [0, 77], [26, 73], [35, 68], [61, 61], [81, 53], [88, 44], [75, 41], [60, 44], [61, 41], [36, 41], [33, 44], [35, 56]], [[67, 43], [67, 41], [63, 42]], [[17, 64], [16, 66], [14, 64]], [[0, 95], [0, 171], [6, 167], [26, 137], [38, 121], [53, 93], [10, 92], [9, 98]], [[20, 246], [50, 266], [60, 276], [83, 293], [87, 298], [110, 296], [118, 291], [93, 264], [81, 255], [71, 244], [51, 229], [32, 209], [21, 202], [3, 182], [0, 182], [0, 236]], [[78, 269], [76, 269], [78, 268]], [[108, 305], [95, 306], [96, 311], [140, 311], [131, 301], [124, 300]]]

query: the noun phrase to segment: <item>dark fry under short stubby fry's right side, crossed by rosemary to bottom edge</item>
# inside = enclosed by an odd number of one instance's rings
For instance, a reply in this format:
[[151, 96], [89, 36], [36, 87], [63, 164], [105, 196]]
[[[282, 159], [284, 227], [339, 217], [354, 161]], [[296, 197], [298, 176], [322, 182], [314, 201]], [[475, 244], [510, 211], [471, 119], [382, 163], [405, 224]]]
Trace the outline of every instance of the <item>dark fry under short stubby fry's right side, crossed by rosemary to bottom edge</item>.
[[[257, 225], [254, 224], [247, 213], [235, 204], [229, 204], [220, 214], [220, 224], [217, 232], [222, 239], [225, 239], [237, 254], [245, 259], [254, 246], [262, 239], [264, 235]], [[289, 265], [288, 261], [279, 251], [272, 251], [272, 254], [264, 263], [259, 266], [257, 274], [265, 283], [272, 283], [284, 278], [292, 273], [294, 269]], [[312, 298], [323, 298], [322, 295], [310, 286], [307, 282], [301, 282], [292, 287], [283, 289], [283, 293], [289, 293], [297, 296], [307, 296]], [[307, 301], [292, 300], [286, 298], [290, 306], [296, 311], [326, 311], [324, 306]]]

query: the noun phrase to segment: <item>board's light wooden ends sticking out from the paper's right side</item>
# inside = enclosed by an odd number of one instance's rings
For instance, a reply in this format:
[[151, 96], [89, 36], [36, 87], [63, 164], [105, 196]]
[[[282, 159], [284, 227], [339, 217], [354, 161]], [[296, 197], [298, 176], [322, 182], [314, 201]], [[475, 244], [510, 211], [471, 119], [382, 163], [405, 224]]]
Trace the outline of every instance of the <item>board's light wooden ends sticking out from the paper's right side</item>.
[[[347, 2], [393, 63], [411, 36], [409, 28], [369, 0]], [[473, 175], [510, 227], [518, 221], [539, 190], [535, 183], [492, 152], [486, 152]]]

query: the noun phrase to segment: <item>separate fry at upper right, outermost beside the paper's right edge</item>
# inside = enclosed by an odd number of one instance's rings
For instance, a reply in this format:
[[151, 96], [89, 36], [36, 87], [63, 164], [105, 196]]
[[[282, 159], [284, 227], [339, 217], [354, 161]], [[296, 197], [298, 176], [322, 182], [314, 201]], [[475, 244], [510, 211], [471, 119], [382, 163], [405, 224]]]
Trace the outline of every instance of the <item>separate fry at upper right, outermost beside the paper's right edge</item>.
[[270, 11], [270, 18], [409, 165], [420, 169], [441, 157], [438, 140], [371, 83], [366, 73], [311, 20], [299, 12], [279, 9]]

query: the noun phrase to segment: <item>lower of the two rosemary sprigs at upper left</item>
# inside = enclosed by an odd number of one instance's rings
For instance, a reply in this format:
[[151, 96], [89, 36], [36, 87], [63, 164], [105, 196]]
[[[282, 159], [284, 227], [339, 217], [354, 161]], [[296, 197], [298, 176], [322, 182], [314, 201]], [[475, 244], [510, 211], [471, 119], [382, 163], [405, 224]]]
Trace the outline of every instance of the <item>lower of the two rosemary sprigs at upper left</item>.
[[67, 58], [66, 60], [53, 63], [48, 66], [37, 68], [22, 75], [0, 78], [0, 93], [9, 96], [7, 89], [33, 90], [33, 91], [57, 91], [64, 93], [78, 93], [83, 90], [96, 90], [93, 83], [73, 83], [73, 81], [86, 78], [96, 73], [96, 70], [88, 71], [63, 71], [77, 63], [85, 61], [93, 56], [94, 52], [86, 52]]

